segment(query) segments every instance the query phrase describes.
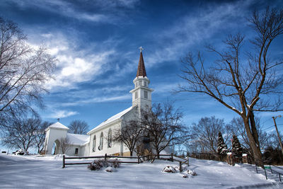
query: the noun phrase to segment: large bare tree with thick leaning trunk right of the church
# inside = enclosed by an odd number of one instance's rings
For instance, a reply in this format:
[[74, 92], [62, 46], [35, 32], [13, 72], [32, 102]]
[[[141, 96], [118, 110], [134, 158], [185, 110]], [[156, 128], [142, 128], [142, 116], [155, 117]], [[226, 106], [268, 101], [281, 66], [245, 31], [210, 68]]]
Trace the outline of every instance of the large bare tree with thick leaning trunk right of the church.
[[[207, 49], [219, 56], [209, 69], [204, 67], [204, 59], [199, 52], [195, 57], [188, 53], [183, 58], [183, 76], [187, 86], [178, 91], [205, 93], [219, 103], [233, 110], [243, 119], [245, 130], [258, 164], [262, 159], [258, 132], [255, 127], [255, 111], [282, 110], [282, 74], [277, 74], [283, 62], [270, 58], [270, 45], [283, 33], [283, 10], [266, 8], [265, 12], [253, 13], [250, 23], [255, 30], [251, 40], [254, 50], [241, 55], [244, 37], [241, 34], [229, 35], [224, 41], [226, 50]], [[276, 97], [276, 98], [275, 98]], [[275, 100], [270, 100], [275, 99]], [[277, 99], [277, 100], [276, 100]]]

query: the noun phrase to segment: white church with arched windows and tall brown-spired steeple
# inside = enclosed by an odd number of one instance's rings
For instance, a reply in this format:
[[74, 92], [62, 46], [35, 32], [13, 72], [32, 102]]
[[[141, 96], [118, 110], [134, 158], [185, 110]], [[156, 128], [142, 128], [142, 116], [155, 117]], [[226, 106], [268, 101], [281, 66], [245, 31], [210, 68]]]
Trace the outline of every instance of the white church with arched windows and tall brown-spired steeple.
[[[123, 143], [112, 142], [112, 130], [121, 128], [129, 120], [140, 116], [141, 109], [151, 108], [151, 92], [149, 79], [146, 76], [144, 57], [140, 47], [137, 76], [134, 78], [132, 106], [108, 118], [89, 131], [87, 135], [68, 133], [69, 128], [56, 122], [45, 130], [45, 154], [62, 154], [60, 141], [67, 138], [70, 147], [65, 154], [69, 156], [98, 156], [103, 154], [129, 156], [129, 149]], [[56, 147], [55, 147], [56, 146]], [[53, 148], [53, 150], [52, 150]]]

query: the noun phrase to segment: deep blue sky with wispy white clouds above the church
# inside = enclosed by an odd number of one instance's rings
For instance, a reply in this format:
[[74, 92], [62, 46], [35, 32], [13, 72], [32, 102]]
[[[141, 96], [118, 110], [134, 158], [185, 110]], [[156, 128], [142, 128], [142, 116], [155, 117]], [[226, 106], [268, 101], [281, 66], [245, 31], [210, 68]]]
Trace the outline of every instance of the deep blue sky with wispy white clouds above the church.
[[[236, 113], [212, 98], [171, 93], [184, 84], [178, 77], [180, 58], [207, 43], [221, 47], [229, 33], [252, 38], [246, 18], [267, 5], [282, 7], [282, 2], [1, 0], [0, 15], [18, 23], [30, 45], [45, 45], [59, 60], [56, 80], [47, 84], [46, 108], [39, 110], [42, 120], [60, 118], [68, 126], [81, 119], [92, 129], [132, 105], [129, 91], [140, 46], [155, 90], [153, 102], [175, 101], [186, 125], [212, 115], [230, 122]], [[273, 46], [276, 56], [283, 55], [282, 42], [281, 37]], [[204, 55], [209, 63], [212, 56]], [[274, 129], [272, 116], [279, 114], [260, 114], [266, 130]], [[277, 118], [277, 124], [282, 128], [283, 118]]]

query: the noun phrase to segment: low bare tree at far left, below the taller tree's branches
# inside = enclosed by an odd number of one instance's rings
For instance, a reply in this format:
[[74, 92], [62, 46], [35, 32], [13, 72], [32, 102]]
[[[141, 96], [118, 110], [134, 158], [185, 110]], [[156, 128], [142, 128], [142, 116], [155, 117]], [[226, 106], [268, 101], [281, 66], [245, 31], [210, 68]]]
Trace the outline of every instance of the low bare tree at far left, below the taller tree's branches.
[[6, 147], [28, 151], [35, 144], [35, 132], [38, 125], [40, 125], [40, 119], [14, 120], [13, 125], [7, 128], [2, 143]]

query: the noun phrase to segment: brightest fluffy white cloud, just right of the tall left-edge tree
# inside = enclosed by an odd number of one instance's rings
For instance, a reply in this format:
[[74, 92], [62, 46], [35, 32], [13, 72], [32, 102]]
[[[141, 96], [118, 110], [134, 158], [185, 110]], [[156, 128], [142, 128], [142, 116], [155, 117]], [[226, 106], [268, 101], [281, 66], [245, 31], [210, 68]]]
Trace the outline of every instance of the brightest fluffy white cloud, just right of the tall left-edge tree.
[[115, 54], [111, 47], [108, 50], [97, 50], [96, 44], [90, 45], [91, 49], [77, 50], [76, 40], [69, 40], [61, 33], [45, 33], [41, 36], [45, 37], [50, 54], [58, 59], [55, 80], [47, 83], [49, 89], [76, 88], [76, 84], [94, 79], [107, 71], [102, 67], [108, 63], [110, 55]]

